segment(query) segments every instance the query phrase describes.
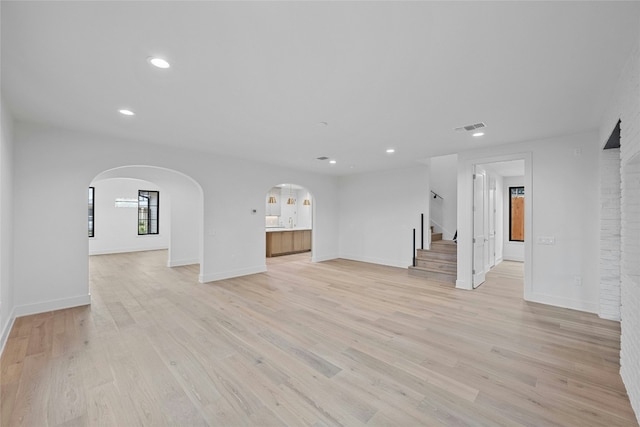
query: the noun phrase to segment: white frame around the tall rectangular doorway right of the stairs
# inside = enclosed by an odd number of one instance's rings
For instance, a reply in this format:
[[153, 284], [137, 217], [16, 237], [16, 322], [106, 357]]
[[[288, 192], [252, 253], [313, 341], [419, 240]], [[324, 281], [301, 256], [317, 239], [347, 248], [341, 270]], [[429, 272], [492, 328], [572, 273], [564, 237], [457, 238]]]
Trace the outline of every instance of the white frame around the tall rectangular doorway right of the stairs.
[[458, 277], [456, 288], [473, 289], [473, 173], [476, 165], [524, 160], [525, 204], [524, 242], [524, 299], [529, 300], [532, 290], [533, 263], [533, 155], [531, 152], [487, 155], [485, 153], [458, 154]]

